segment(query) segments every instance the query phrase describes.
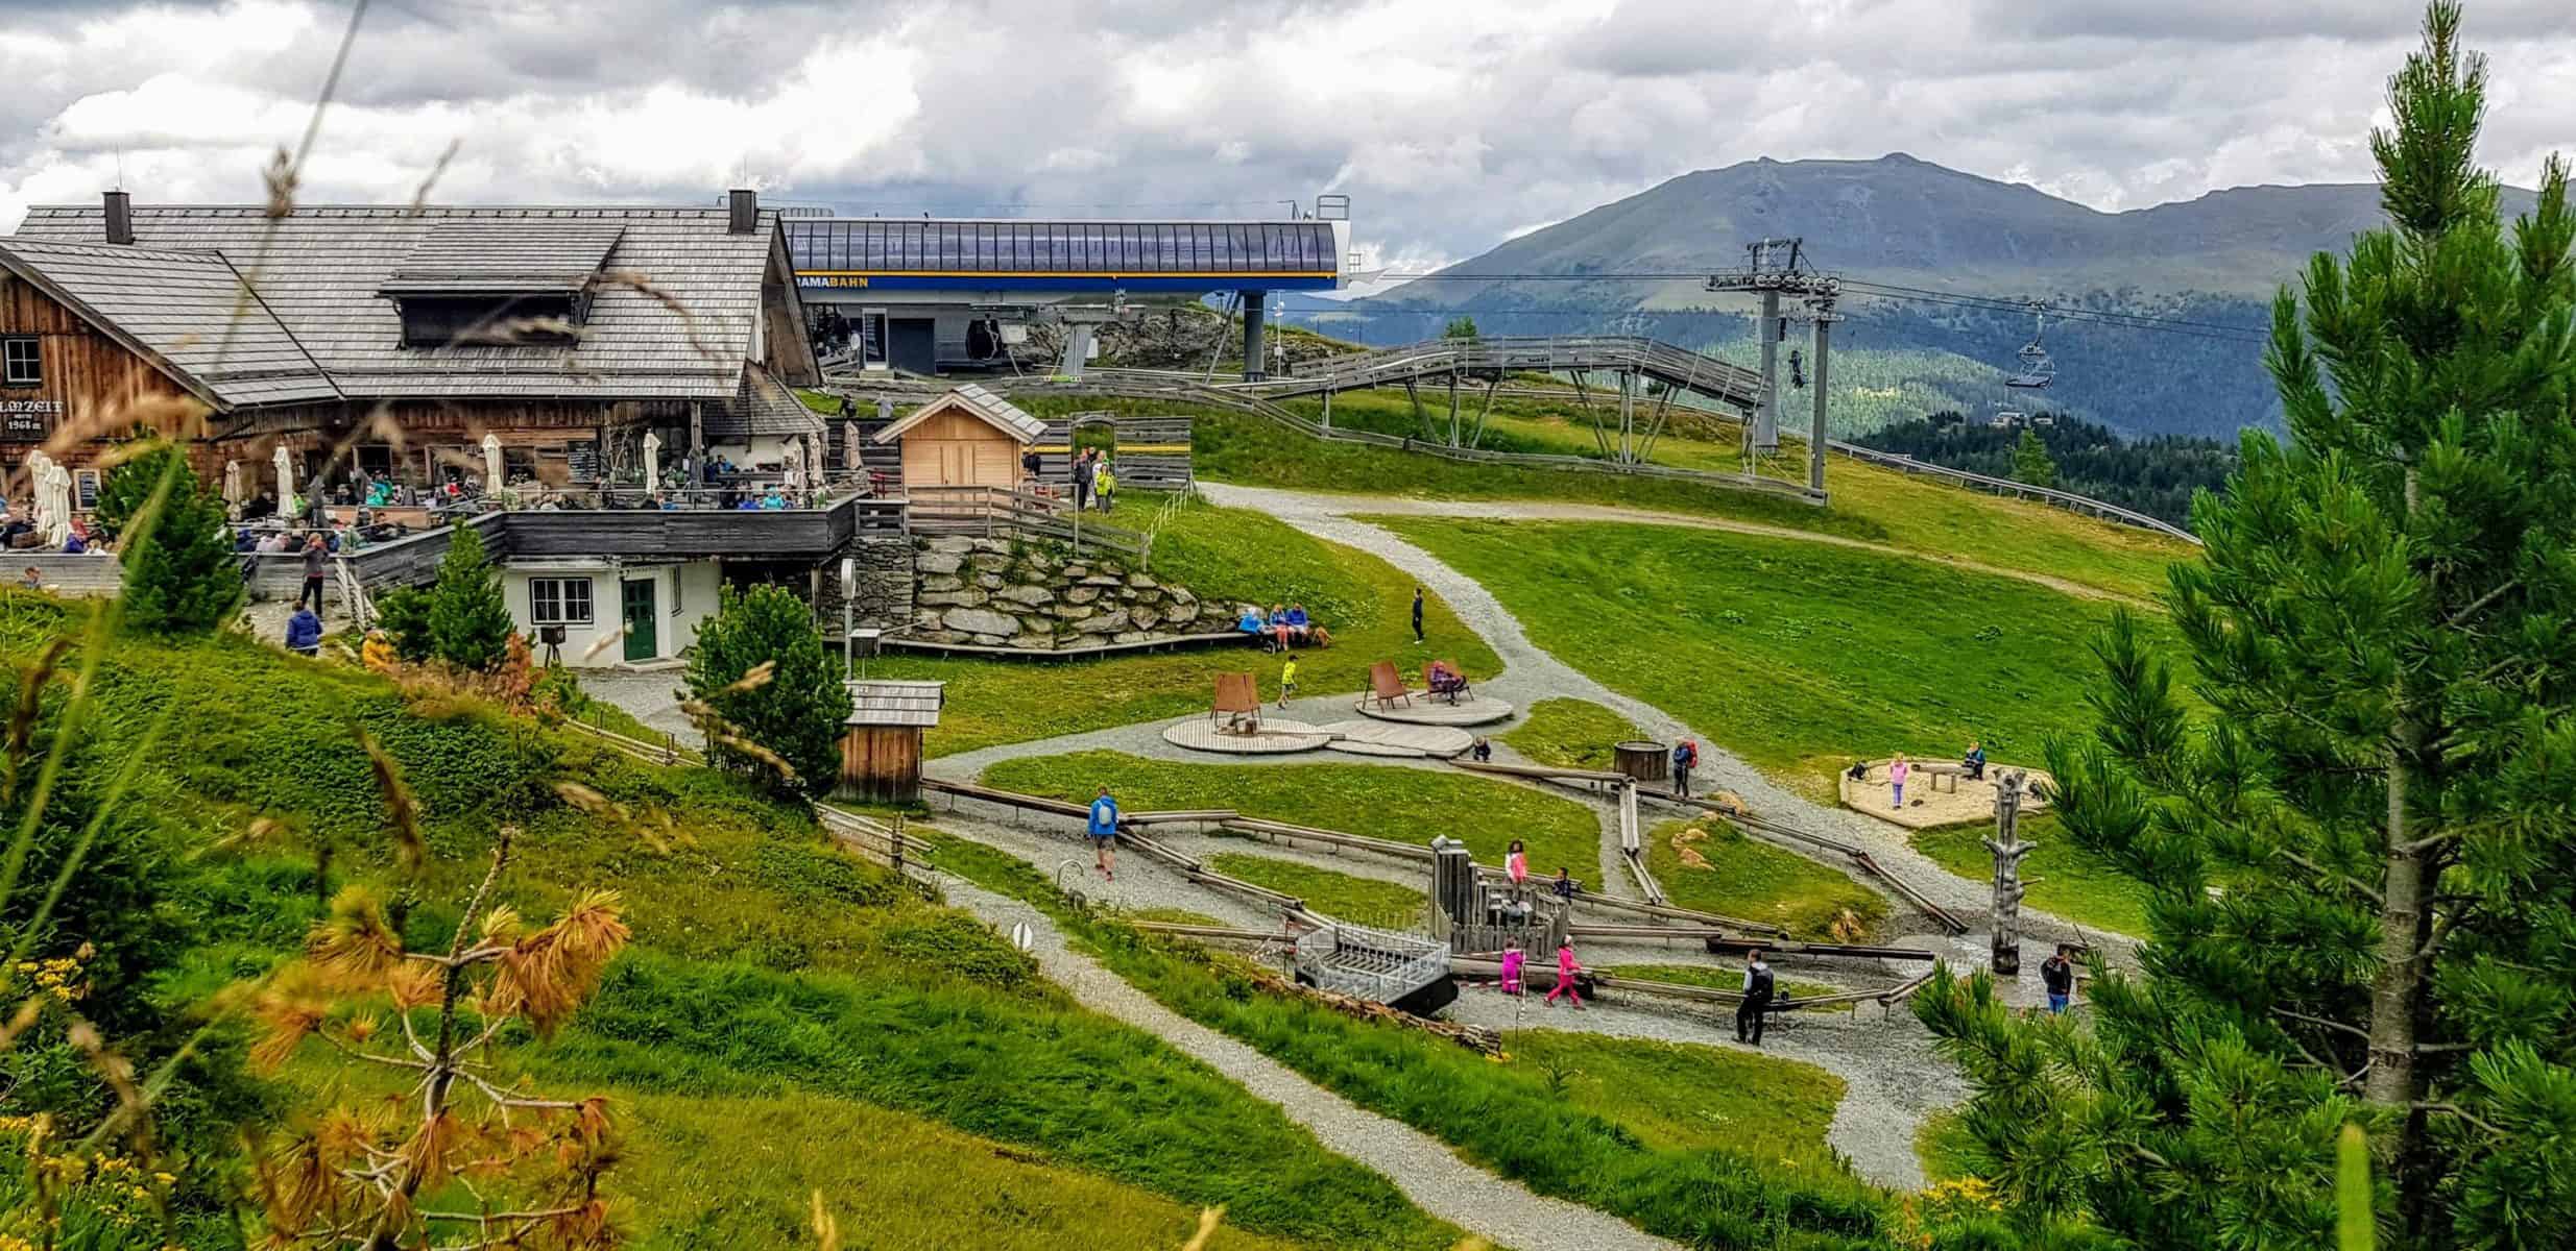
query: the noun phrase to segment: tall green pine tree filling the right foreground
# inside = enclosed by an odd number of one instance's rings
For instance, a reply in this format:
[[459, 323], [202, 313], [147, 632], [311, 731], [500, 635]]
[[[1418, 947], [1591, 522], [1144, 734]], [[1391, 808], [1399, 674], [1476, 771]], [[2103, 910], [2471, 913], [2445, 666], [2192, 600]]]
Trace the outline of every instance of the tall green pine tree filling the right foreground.
[[2550, 160], [2499, 227], [2458, 23], [2372, 134], [2391, 229], [2275, 304], [2290, 445], [2195, 507], [2166, 600], [2213, 716], [2120, 618], [2097, 736], [2048, 752], [2063, 829], [2154, 891], [2141, 976], [2089, 1032], [1984, 976], [1917, 1001], [2032, 1225], [2326, 1246], [2360, 1122], [2388, 1246], [2576, 1228], [2576, 216]]

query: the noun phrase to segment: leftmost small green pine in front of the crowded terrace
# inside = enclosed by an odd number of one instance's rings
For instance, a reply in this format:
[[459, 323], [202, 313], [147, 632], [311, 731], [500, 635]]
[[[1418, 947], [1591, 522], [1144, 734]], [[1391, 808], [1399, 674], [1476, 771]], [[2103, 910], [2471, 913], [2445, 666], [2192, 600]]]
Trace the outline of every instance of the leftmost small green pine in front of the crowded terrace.
[[[152, 497], [160, 492], [160, 507]], [[100, 499], [118, 499], [126, 525], [124, 626], [152, 636], [214, 633], [242, 602], [224, 502], [198, 486], [188, 461], [160, 448], [108, 471]]]

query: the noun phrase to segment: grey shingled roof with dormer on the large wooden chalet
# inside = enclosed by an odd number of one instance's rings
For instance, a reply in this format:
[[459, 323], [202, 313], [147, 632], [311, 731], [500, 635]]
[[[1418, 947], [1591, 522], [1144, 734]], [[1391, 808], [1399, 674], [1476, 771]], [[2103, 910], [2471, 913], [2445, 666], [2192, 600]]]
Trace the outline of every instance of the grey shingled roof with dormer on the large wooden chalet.
[[[263, 208], [139, 206], [134, 245], [103, 245], [100, 208], [28, 208], [18, 250], [59, 286], [62, 255], [41, 245], [85, 245], [82, 257], [121, 252], [118, 283], [204, 283], [214, 263], [250, 275], [278, 340], [294, 340], [317, 386], [353, 399], [379, 396], [587, 396], [734, 399], [757, 340], [760, 299], [778, 245], [778, 216], [732, 234], [724, 208]], [[88, 260], [85, 260], [88, 263]], [[80, 281], [106, 283], [103, 275]], [[590, 288], [590, 314], [572, 345], [500, 342], [404, 348], [389, 293], [487, 293]], [[198, 301], [108, 319], [167, 327], [131, 337], [170, 353], [175, 335], [206, 335]], [[229, 317], [232, 296], [224, 299]], [[222, 324], [222, 322], [214, 322]], [[185, 368], [185, 366], [183, 366]], [[206, 381], [224, 404], [276, 404], [314, 394], [258, 394]]]

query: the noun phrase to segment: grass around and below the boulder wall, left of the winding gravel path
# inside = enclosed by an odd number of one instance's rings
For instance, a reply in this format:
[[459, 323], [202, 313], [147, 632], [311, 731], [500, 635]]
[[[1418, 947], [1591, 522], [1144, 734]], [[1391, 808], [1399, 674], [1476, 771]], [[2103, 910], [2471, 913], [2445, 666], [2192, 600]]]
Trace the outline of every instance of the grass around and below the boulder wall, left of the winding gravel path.
[[[1139, 512], [1141, 515], [1141, 512]], [[1260, 512], [1193, 502], [1154, 538], [1154, 574], [1190, 587], [1203, 602], [1303, 602], [1334, 641], [1306, 649], [1298, 685], [1306, 695], [1358, 692], [1370, 662], [1412, 656], [1414, 584], [1394, 566], [1334, 543], [1306, 538]], [[1211, 607], [1216, 613], [1216, 607]], [[1471, 677], [1502, 667], [1494, 649], [1427, 597], [1425, 631], [1440, 654]], [[1231, 626], [1231, 610], [1226, 623]], [[1079, 734], [1136, 721], [1203, 713], [1216, 674], [1252, 672], [1265, 698], [1278, 698], [1280, 656], [1252, 646], [1218, 646], [1097, 662], [976, 662], [889, 656], [868, 664], [876, 677], [948, 682], [948, 710], [930, 731], [930, 754]]]

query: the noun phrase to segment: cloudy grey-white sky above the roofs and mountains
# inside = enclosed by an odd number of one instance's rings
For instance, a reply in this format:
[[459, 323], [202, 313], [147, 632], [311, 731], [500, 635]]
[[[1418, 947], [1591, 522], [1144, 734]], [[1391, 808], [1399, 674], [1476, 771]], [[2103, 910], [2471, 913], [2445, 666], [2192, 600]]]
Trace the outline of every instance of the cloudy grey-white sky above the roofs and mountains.
[[[374, 0], [301, 198], [1249, 216], [1399, 268], [1752, 157], [1911, 152], [2117, 211], [2365, 180], [2411, 0]], [[0, 0], [0, 229], [255, 201], [345, 3]], [[2486, 160], [2576, 149], [2576, 3], [2470, 0]]]

